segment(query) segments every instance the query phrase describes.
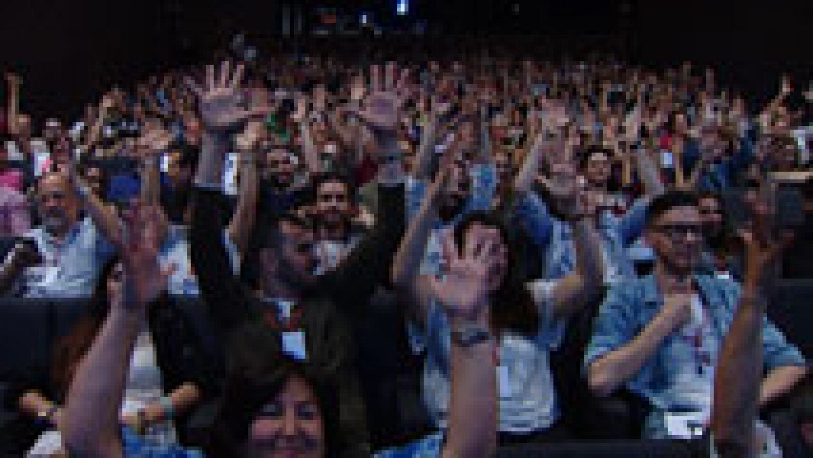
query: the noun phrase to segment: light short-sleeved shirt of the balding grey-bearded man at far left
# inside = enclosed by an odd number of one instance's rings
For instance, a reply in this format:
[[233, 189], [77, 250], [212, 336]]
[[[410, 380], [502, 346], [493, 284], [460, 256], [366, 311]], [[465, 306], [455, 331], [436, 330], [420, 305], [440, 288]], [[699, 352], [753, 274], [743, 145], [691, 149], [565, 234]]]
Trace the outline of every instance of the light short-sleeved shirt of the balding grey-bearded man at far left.
[[92, 296], [102, 266], [115, 251], [90, 218], [76, 223], [62, 243], [41, 226], [27, 236], [37, 244], [43, 262], [24, 271], [25, 297]]

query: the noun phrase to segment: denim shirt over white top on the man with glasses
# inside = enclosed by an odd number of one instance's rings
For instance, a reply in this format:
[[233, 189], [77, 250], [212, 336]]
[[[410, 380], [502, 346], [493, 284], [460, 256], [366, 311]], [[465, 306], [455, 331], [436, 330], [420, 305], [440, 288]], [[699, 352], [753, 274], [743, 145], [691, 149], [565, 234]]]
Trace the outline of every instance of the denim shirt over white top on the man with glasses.
[[[698, 359], [709, 352], [711, 369], [740, 298], [740, 286], [729, 279], [696, 275], [698, 299], [707, 314], [708, 326], [703, 329], [704, 341], [698, 351], [686, 339], [686, 327], [664, 339], [661, 347], [626, 386], [644, 397], [656, 411], [702, 410], [711, 402], [711, 386], [706, 405], [698, 404]], [[654, 276], [624, 279], [607, 293], [595, 321], [593, 338], [585, 353], [585, 368], [608, 352], [629, 344], [663, 308], [663, 296], [658, 292]], [[805, 365], [802, 354], [785, 341], [776, 326], [765, 318], [763, 322], [763, 355], [765, 371], [776, 367]], [[712, 378], [706, 378], [711, 383]], [[702, 403], [701, 403], [702, 404]]]

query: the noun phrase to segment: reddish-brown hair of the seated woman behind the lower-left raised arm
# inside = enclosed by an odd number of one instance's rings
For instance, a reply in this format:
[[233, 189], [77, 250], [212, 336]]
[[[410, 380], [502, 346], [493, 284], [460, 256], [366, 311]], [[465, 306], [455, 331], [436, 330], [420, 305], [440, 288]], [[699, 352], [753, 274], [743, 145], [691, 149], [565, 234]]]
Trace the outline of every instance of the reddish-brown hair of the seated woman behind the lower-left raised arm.
[[73, 374], [76, 373], [80, 361], [107, 319], [107, 312], [110, 310], [107, 282], [119, 261], [120, 258], [114, 256], [102, 266], [96, 287], [93, 289], [93, 296], [90, 296], [87, 312], [76, 322], [69, 334], [59, 338], [54, 344], [51, 379], [54, 381], [56, 391], [62, 395], [67, 395]]

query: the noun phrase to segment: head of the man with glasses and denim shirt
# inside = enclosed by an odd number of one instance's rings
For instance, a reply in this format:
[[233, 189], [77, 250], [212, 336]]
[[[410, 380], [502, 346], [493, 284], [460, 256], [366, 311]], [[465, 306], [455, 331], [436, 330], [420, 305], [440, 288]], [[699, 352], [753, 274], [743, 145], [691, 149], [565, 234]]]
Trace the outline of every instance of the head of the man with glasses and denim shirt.
[[703, 226], [698, 198], [672, 191], [655, 197], [646, 219], [646, 241], [669, 272], [687, 275], [702, 251]]

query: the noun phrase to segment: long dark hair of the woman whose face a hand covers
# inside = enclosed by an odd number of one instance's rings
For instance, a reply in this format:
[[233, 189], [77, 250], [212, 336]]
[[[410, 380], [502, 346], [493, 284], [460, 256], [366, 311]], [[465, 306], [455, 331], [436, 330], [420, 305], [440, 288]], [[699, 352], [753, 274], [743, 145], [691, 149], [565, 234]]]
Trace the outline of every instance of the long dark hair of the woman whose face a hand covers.
[[533, 296], [525, 287], [520, 262], [520, 247], [502, 219], [485, 212], [468, 214], [454, 228], [454, 243], [463, 247], [468, 229], [474, 224], [496, 227], [508, 248], [508, 271], [497, 291], [491, 294], [491, 322], [495, 330], [511, 330], [533, 337], [539, 333], [539, 312]]

